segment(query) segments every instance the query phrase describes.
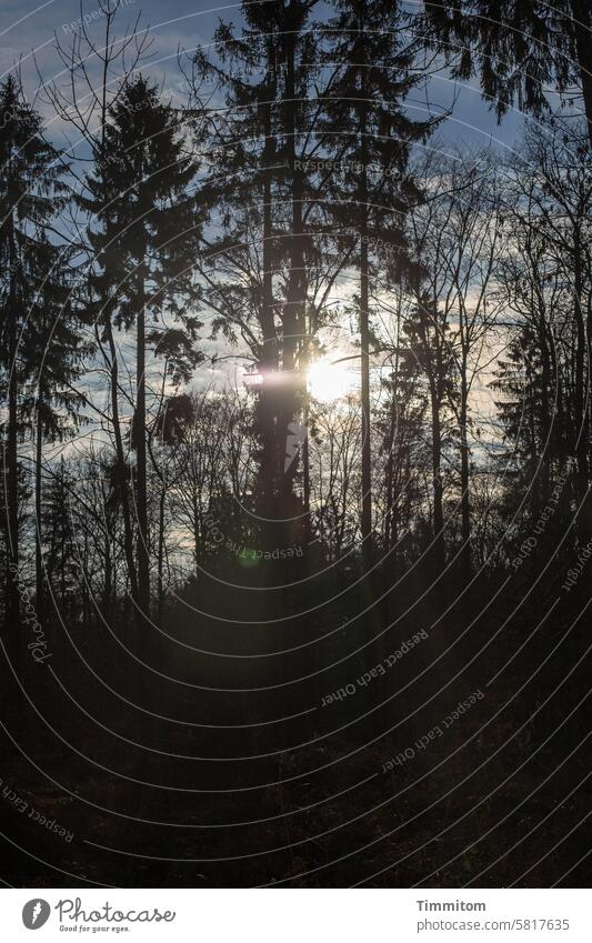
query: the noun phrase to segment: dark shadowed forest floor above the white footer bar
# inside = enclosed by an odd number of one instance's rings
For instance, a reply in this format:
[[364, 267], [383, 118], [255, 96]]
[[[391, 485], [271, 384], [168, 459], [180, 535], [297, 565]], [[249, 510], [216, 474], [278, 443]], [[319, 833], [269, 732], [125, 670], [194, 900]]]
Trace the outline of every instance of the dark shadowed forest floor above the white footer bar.
[[[432, 630], [341, 701], [327, 694], [360, 668], [317, 679], [303, 702], [314, 709], [271, 724], [299, 706], [279, 675], [259, 713], [234, 690], [257, 671], [222, 670], [210, 688], [225, 678], [231, 691], [207, 696], [162, 683], [138, 723], [121, 698], [54, 669], [31, 689], [43, 716], [20, 750], [3, 740], [1, 876], [16, 886], [585, 886], [585, 605], [564, 601], [545, 621], [543, 593], [536, 613], [500, 632], [512, 609], [505, 594], [471, 641], [450, 623], [438, 639]], [[399, 625], [391, 650], [425, 624]], [[387, 650], [368, 653], [365, 669]], [[123, 681], [102, 678], [114, 691]]]

